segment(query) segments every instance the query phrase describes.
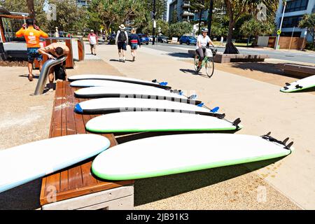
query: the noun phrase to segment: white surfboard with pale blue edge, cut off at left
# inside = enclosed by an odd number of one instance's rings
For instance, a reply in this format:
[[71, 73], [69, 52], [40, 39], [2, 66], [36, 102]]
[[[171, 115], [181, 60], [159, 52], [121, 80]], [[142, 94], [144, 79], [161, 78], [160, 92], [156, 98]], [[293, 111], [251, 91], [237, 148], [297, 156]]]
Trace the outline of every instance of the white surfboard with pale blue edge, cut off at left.
[[97, 155], [109, 145], [101, 135], [73, 134], [0, 151], [0, 192]]

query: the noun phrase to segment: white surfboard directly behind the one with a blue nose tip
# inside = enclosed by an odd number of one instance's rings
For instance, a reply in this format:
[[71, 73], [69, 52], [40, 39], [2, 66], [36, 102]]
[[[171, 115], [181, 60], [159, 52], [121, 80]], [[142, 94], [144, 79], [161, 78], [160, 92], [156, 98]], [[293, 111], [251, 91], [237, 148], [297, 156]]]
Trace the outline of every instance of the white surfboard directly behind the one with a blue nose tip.
[[128, 97], [128, 98], [143, 98], [143, 99], [162, 99], [176, 102], [184, 102], [187, 104], [200, 104], [201, 101], [188, 99], [183, 95], [169, 92], [167, 90], [150, 89], [139, 90], [138, 88], [123, 88], [117, 90], [115, 87], [85, 87], [74, 92], [77, 98], [102, 98], [102, 97]]

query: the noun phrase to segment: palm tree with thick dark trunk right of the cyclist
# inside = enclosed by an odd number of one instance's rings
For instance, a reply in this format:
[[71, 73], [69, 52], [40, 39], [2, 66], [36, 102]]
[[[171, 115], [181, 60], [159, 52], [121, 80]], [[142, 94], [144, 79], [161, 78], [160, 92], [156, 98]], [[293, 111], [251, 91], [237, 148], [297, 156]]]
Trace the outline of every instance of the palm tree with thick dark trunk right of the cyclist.
[[239, 51], [235, 48], [235, 45], [232, 43], [232, 31], [235, 27], [235, 23], [242, 15], [252, 14], [257, 15], [260, 8], [258, 5], [263, 4], [263, 8], [265, 9], [265, 15], [267, 18], [274, 16], [276, 13], [276, 8], [278, 7], [278, 0], [224, 0], [226, 13], [229, 16], [230, 22], [228, 27], [228, 38], [227, 44], [225, 47], [225, 54], [238, 54]]

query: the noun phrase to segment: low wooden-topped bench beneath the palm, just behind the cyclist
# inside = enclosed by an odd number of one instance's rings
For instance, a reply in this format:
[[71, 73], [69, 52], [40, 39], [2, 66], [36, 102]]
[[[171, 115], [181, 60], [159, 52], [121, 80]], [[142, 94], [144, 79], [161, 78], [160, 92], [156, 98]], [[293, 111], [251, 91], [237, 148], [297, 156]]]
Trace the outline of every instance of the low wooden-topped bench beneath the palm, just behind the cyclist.
[[[195, 50], [188, 50], [188, 53], [195, 57]], [[243, 55], [243, 54], [222, 54], [216, 53], [214, 62], [216, 63], [230, 63], [230, 62], [264, 62], [268, 55]]]

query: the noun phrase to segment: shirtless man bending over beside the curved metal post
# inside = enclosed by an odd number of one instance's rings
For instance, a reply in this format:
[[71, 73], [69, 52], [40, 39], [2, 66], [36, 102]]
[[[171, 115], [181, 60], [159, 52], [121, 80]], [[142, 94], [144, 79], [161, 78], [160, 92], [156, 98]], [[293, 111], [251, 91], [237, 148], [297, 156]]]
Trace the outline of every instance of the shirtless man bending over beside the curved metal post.
[[[67, 56], [70, 52], [69, 48], [64, 43], [52, 43], [45, 48], [41, 48], [38, 50], [42, 55], [47, 55], [48, 59], [56, 59], [62, 56]], [[54, 81], [54, 72], [55, 72], [55, 80], [61, 79], [66, 80], [66, 61], [56, 64], [49, 71], [49, 89], [53, 90], [53, 81]]]

